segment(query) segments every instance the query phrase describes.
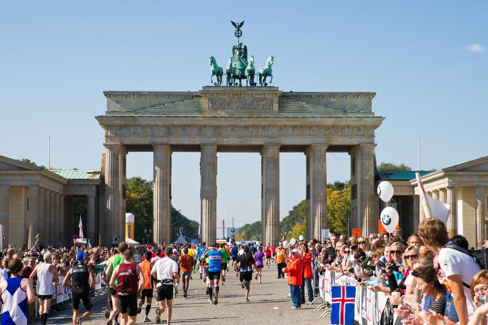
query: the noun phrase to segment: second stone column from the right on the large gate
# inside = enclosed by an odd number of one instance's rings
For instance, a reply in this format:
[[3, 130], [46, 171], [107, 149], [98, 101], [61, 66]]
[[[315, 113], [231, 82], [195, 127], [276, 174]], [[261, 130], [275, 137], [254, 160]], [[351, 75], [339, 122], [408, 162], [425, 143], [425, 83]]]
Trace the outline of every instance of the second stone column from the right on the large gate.
[[325, 145], [311, 145], [306, 149], [306, 238], [321, 240], [322, 229], [327, 229], [327, 172]]

